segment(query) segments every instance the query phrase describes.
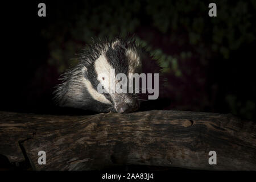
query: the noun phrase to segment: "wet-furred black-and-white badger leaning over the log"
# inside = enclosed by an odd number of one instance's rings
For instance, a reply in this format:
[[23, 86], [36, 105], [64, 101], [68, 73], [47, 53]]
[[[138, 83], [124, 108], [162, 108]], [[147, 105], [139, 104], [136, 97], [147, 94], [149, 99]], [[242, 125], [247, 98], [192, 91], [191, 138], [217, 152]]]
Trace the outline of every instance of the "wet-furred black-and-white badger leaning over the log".
[[[56, 104], [98, 113], [138, 110], [141, 102], [138, 93], [99, 93], [98, 85], [106, 79], [100, 75], [110, 75], [112, 70], [115, 76], [118, 73], [142, 73], [143, 67], [154, 68], [156, 65], [152, 55], [129, 36], [111, 40], [94, 38], [87, 47], [79, 54], [79, 63], [61, 75], [61, 83], [53, 92]], [[114, 86], [120, 81], [117, 78], [112, 80]]]

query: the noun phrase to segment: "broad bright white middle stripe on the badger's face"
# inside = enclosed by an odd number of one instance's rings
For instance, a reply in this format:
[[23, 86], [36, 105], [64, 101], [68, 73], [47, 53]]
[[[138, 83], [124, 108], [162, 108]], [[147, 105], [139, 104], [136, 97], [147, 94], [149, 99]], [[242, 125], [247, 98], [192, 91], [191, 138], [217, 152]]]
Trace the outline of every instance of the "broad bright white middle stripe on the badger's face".
[[[101, 82], [101, 84], [109, 93], [114, 93], [115, 85], [118, 81], [115, 79], [115, 73], [113, 73], [114, 68], [108, 63], [105, 55], [98, 57], [94, 63], [94, 66], [98, 75], [98, 81]], [[106, 77], [102, 78], [102, 74], [106, 75]]]

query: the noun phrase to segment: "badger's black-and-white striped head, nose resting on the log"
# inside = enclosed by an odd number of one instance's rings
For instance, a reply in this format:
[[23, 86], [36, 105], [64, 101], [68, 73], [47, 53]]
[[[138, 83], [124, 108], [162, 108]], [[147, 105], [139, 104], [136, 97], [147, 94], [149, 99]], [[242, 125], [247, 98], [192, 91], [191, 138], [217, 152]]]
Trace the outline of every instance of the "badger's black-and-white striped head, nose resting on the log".
[[[103, 104], [109, 105], [109, 110], [117, 113], [127, 113], [139, 109], [137, 95], [121, 93], [118, 88], [123, 78], [118, 77], [123, 73], [129, 82], [133, 80], [129, 73], [141, 72], [139, 51], [134, 43], [114, 40], [105, 45], [98, 58], [86, 68], [86, 88], [90, 96]], [[99, 90], [101, 89], [101, 90]], [[134, 88], [137, 89], [137, 88]], [[104, 90], [104, 92], [100, 92]]]

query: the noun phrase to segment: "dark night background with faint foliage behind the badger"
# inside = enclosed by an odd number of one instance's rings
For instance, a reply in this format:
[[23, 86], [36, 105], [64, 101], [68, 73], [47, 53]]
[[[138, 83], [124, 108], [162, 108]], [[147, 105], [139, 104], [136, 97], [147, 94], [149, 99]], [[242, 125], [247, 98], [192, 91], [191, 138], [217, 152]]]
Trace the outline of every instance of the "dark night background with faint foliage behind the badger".
[[[46, 17], [38, 17], [38, 3]], [[208, 16], [215, 2], [217, 17]], [[55, 113], [52, 91], [90, 38], [135, 34], [159, 60], [151, 109], [255, 121], [256, 1], [1, 2], [0, 110]]]

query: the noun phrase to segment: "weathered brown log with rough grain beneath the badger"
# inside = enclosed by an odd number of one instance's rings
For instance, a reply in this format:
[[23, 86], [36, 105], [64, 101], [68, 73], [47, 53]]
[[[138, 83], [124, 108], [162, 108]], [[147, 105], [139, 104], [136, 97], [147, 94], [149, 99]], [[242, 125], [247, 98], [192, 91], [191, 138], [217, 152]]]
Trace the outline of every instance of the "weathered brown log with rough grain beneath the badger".
[[[0, 112], [0, 154], [36, 170], [115, 165], [256, 170], [256, 125], [232, 114], [151, 110], [129, 114]], [[38, 152], [46, 152], [46, 165]], [[209, 151], [217, 164], [210, 165]]]

